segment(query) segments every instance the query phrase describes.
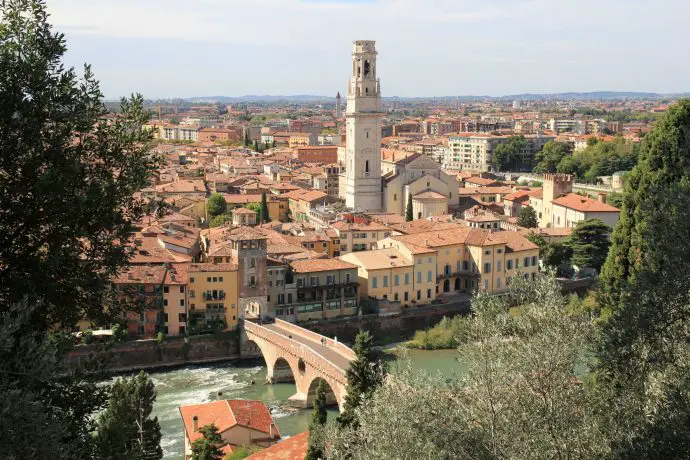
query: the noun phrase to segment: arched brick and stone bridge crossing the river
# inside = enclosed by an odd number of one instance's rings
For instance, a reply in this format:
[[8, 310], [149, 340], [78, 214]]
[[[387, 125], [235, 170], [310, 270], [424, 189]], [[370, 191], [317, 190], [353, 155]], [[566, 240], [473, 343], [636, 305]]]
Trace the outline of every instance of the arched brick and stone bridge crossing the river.
[[276, 319], [270, 323], [245, 319], [242, 350], [254, 344], [266, 361], [270, 383], [295, 382], [290, 402], [311, 407], [321, 380], [330, 389], [328, 402], [343, 409], [347, 394], [345, 373], [355, 353], [346, 345], [295, 324]]

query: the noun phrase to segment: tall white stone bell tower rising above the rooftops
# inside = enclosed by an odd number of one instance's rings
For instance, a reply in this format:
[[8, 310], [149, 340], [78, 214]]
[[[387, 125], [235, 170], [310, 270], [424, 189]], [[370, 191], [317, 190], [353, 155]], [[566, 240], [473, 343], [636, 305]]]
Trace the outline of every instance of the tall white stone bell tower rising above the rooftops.
[[355, 211], [383, 209], [381, 191], [381, 86], [374, 41], [358, 40], [352, 50], [347, 87], [345, 204]]

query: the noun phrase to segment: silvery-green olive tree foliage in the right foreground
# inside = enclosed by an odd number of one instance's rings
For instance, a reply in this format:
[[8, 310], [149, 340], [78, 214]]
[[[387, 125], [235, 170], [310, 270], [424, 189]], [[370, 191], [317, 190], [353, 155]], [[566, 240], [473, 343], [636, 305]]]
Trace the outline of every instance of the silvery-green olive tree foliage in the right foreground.
[[575, 371], [590, 365], [595, 325], [567, 307], [550, 276], [479, 294], [456, 335], [462, 378], [393, 369], [361, 407], [359, 429], [327, 429], [327, 457], [610, 458], [617, 421]]

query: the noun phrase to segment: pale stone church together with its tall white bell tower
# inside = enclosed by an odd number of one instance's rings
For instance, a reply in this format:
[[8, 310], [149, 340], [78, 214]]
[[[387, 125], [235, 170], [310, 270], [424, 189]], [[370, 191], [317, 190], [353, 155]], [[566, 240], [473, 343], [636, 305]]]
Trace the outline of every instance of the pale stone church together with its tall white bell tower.
[[374, 41], [354, 42], [352, 76], [347, 88], [345, 146], [340, 197], [357, 212], [404, 215], [412, 199], [413, 216], [448, 214], [458, 203], [457, 177], [425, 154], [381, 149], [381, 83], [376, 76]]

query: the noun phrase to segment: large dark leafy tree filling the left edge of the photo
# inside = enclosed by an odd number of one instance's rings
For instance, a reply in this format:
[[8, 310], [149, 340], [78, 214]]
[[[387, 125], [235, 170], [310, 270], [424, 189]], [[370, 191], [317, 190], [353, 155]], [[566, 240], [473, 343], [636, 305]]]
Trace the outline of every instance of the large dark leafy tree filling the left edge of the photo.
[[66, 366], [68, 332], [120, 316], [110, 280], [134, 249], [133, 222], [160, 209], [134, 197], [161, 164], [143, 98], [108, 113], [90, 67], [78, 75], [61, 63], [65, 39], [47, 18], [41, 0], [0, 2], [0, 412], [12, 414], [0, 432], [10, 459], [93, 458], [107, 386], [95, 385], [99, 362], [88, 376]]

